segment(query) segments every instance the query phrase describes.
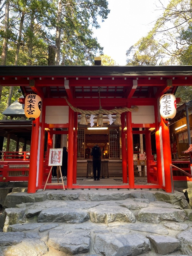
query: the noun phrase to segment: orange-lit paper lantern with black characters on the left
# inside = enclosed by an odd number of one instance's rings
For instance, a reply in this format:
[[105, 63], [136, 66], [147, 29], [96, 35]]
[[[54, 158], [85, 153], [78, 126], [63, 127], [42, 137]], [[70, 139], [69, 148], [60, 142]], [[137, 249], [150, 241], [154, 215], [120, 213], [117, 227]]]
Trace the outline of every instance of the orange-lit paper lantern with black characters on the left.
[[37, 118], [41, 114], [41, 98], [37, 94], [29, 94], [25, 98], [24, 112], [28, 118]]

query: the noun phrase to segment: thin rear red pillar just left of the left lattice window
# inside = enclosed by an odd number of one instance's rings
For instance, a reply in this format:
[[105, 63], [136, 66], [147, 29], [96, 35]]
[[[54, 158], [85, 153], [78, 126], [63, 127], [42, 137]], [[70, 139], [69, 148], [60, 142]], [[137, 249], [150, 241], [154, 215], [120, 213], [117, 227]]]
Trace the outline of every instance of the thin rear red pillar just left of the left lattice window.
[[77, 112], [74, 113], [74, 136], [73, 136], [73, 184], [77, 183]]

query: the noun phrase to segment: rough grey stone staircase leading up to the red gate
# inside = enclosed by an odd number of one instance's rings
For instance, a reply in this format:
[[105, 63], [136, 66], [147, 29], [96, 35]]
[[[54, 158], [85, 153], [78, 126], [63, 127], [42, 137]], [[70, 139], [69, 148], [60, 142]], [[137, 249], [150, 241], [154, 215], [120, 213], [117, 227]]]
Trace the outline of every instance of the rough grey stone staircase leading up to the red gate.
[[192, 255], [192, 210], [178, 191], [9, 193], [4, 208], [1, 256]]

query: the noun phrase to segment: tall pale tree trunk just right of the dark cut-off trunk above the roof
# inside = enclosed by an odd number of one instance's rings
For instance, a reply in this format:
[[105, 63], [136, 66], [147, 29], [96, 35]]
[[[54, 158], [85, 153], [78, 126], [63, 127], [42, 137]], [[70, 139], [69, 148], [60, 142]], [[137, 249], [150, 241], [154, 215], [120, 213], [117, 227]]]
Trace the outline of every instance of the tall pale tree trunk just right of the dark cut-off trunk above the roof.
[[58, 15], [57, 15], [57, 26], [56, 26], [56, 37], [55, 37], [55, 44], [57, 47], [56, 50], [56, 61], [55, 65], [59, 66], [59, 60], [60, 60], [60, 47], [61, 47], [61, 12], [62, 12], [62, 0], [58, 0]]

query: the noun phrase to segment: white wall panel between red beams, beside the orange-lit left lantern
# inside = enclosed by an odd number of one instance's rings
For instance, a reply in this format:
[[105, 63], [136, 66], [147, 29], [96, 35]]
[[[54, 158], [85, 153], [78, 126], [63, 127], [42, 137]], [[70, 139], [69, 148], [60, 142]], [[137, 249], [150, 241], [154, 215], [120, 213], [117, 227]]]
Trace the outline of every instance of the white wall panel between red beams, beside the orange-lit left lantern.
[[45, 123], [69, 123], [69, 106], [46, 106]]

